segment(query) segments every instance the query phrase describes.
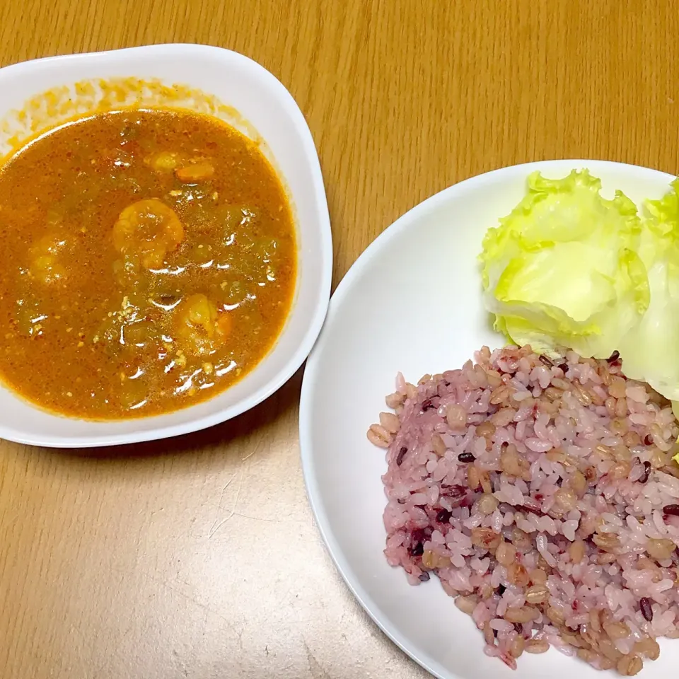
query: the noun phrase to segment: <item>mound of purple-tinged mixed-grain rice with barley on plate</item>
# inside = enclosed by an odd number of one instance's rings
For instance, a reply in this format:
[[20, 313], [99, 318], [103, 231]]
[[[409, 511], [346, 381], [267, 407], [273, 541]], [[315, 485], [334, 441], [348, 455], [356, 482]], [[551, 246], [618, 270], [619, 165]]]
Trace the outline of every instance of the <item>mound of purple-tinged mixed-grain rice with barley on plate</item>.
[[388, 448], [385, 555], [436, 574], [516, 668], [562, 653], [624, 676], [679, 637], [679, 427], [607, 361], [483, 347], [461, 370], [397, 376], [368, 439]]

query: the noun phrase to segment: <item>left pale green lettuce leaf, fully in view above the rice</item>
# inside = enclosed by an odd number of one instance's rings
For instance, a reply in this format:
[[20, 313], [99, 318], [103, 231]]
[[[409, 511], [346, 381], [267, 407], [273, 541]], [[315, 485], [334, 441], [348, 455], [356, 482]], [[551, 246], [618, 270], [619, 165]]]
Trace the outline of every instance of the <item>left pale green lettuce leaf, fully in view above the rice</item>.
[[484, 302], [511, 342], [610, 356], [649, 307], [637, 207], [600, 189], [588, 170], [557, 180], [533, 173], [526, 197], [487, 232]]

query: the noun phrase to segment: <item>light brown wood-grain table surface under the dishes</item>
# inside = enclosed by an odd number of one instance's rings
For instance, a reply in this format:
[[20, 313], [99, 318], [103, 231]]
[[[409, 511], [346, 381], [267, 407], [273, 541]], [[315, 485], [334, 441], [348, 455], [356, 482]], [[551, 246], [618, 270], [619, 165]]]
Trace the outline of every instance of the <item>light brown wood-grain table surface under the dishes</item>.
[[[272, 71], [318, 146], [335, 284], [402, 212], [485, 170], [605, 158], [677, 172], [678, 35], [673, 0], [0, 3], [0, 66], [206, 42]], [[0, 677], [423, 678], [320, 542], [300, 383], [172, 441], [1, 442]]]

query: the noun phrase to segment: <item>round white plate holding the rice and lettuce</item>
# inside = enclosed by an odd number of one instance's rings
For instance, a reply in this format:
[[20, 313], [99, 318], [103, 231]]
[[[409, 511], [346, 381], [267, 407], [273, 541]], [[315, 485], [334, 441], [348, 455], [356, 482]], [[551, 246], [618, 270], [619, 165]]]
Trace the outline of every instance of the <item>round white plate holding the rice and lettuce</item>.
[[[582, 679], [601, 673], [554, 649], [524, 654], [513, 673], [483, 653], [482, 635], [439, 581], [413, 587], [383, 555], [384, 452], [366, 439], [385, 410], [397, 371], [458, 368], [483, 344], [497, 347], [481, 300], [477, 255], [523, 197], [526, 178], [588, 168], [610, 197], [620, 189], [641, 202], [668, 190], [671, 175], [605, 161], [548, 161], [495, 170], [450, 187], [397, 219], [359, 257], [330, 302], [304, 375], [300, 439], [316, 521], [340, 573], [373, 620], [407, 654], [441, 679]], [[641, 676], [671, 674], [679, 641], [661, 644]]]

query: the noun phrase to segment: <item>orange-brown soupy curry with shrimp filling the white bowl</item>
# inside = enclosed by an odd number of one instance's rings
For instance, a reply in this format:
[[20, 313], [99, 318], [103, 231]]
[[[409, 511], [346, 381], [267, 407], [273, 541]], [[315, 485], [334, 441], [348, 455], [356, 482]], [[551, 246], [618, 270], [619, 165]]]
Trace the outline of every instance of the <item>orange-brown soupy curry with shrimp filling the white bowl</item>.
[[267, 354], [294, 223], [257, 144], [207, 115], [74, 120], [0, 168], [0, 378], [87, 419], [177, 410]]

